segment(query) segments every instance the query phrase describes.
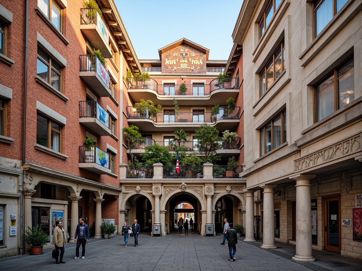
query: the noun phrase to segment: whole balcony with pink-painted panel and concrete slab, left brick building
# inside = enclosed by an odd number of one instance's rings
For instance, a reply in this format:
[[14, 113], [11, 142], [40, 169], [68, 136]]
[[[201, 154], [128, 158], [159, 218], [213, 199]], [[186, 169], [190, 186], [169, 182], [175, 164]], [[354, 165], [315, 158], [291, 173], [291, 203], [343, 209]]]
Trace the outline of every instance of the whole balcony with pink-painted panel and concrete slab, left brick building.
[[96, 55], [80, 55], [79, 76], [100, 97], [111, 97], [111, 78]]

